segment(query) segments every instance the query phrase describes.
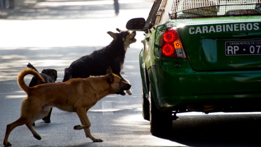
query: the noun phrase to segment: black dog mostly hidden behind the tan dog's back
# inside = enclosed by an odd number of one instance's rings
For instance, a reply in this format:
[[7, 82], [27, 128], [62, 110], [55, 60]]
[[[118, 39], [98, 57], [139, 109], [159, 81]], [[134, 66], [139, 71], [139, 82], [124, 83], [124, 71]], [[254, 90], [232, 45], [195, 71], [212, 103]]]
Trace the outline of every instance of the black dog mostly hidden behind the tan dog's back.
[[[35, 71], [38, 72], [38, 70], [31, 64], [28, 63], [27, 67], [34, 69]], [[54, 69], [44, 69], [42, 71], [42, 73], [40, 73], [40, 75], [43, 77], [43, 79], [45, 80], [45, 82], [39, 81], [38, 79], [36, 79], [36, 77], [32, 77], [32, 80], [29, 83], [29, 87], [33, 87], [39, 84], [44, 84], [44, 83], [54, 83], [57, 79], [57, 71]], [[50, 123], [51, 122], [51, 113], [52, 113], [52, 108], [50, 109], [49, 114], [43, 118], [43, 121], [45, 123]], [[35, 124], [33, 123], [33, 126]]]

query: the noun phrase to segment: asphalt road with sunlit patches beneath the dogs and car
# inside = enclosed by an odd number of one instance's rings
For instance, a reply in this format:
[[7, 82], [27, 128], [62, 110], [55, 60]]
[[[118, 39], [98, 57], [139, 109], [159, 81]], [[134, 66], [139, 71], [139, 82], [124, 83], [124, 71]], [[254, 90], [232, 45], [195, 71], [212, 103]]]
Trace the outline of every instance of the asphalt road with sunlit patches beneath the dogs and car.
[[[121, 0], [115, 16], [113, 1], [42, 1], [24, 6], [0, 20], [0, 140], [6, 125], [20, 115], [26, 97], [17, 85], [17, 74], [32, 63], [39, 71], [58, 71], [56, 82], [63, 80], [64, 68], [111, 42], [107, 31], [125, 29], [134, 17], [146, 18], [153, 1]], [[142, 32], [126, 53], [123, 77], [132, 85], [133, 95], [109, 95], [89, 110], [92, 135], [104, 142], [93, 143], [83, 130], [73, 130], [80, 121], [76, 113], [54, 108], [51, 123], [36, 121], [41, 135], [36, 140], [23, 125], [10, 134], [12, 146], [261, 146], [260, 113], [178, 114], [173, 134], [153, 136], [149, 121], [142, 118], [141, 78], [138, 55]], [[25, 77], [29, 84], [32, 76]]]

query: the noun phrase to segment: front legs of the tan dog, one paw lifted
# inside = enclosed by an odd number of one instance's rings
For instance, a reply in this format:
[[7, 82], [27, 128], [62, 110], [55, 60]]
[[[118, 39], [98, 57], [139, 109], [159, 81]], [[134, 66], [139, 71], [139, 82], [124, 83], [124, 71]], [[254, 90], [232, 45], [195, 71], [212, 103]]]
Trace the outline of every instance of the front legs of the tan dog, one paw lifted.
[[91, 135], [91, 131], [90, 131], [91, 122], [88, 119], [87, 111], [84, 108], [82, 109], [77, 108], [77, 115], [82, 123], [82, 126], [80, 125], [74, 126], [73, 129], [74, 130], [84, 129], [87, 138], [89, 137], [93, 142], [102, 142], [103, 141], [102, 139], [95, 138]]

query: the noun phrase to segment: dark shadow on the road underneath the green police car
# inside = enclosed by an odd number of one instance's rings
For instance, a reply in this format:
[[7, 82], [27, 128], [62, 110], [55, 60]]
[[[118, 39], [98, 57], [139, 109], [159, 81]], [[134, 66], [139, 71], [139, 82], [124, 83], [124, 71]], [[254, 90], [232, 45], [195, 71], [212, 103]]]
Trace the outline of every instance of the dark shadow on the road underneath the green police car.
[[[173, 121], [173, 132], [163, 139], [188, 146], [260, 146], [260, 114], [191, 116]], [[193, 118], [192, 118], [193, 117]]]

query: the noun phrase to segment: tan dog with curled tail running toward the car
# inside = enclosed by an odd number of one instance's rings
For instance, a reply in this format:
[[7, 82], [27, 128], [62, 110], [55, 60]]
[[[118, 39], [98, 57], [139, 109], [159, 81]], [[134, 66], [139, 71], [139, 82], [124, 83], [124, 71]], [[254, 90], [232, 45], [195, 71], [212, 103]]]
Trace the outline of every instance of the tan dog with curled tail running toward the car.
[[126, 95], [124, 90], [131, 88], [130, 84], [113, 74], [110, 67], [105, 76], [76, 78], [66, 82], [46, 83], [34, 87], [28, 87], [25, 84], [24, 77], [28, 74], [44, 81], [38, 72], [30, 68], [19, 73], [17, 82], [21, 89], [27, 93], [27, 97], [22, 101], [20, 118], [6, 126], [4, 146], [12, 145], [8, 142], [9, 134], [14, 128], [23, 124], [30, 129], [36, 139], [42, 139], [34, 130], [32, 124], [34, 121], [45, 117], [50, 107], [76, 112], [82, 125], [74, 126], [73, 129], [84, 129], [86, 137], [89, 137], [93, 142], [102, 142], [102, 139], [91, 135], [89, 129], [91, 123], [87, 117], [87, 111], [106, 95]]

